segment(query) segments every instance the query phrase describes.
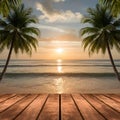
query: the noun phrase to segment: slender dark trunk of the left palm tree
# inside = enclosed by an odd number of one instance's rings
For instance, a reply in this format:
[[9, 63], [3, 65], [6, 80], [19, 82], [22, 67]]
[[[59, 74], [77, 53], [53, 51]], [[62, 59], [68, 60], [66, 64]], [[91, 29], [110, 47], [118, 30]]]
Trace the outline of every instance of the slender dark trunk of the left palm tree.
[[9, 50], [9, 54], [8, 54], [8, 57], [7, 57], [7, 61], [6, 61], [5, 67], [4, 67], [4, 69], [3, 69], [3, 71], [1, 72], [1, 75], [0, 75], [0, 82], [3, 79], [3, 76], [5, 75], [5, 72], [7, 70], [7, 66], [9, 64], [9, 61], [10, 61], [10, 58], [11, 58], [11, 54], [12, 54], [12, 50], [13, 50], [13, 43], [14, 43], [14, 39], [12, 40], [12, 43], [11, 43], [11, 46], [10, 46], [10, 50]]

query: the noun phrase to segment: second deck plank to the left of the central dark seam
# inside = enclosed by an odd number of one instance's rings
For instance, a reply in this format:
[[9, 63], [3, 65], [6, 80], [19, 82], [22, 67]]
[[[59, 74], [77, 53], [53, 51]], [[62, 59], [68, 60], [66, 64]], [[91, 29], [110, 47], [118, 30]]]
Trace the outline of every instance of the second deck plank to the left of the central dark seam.
[[36, 120], [47, 94], [39, 95], [15, 120]]

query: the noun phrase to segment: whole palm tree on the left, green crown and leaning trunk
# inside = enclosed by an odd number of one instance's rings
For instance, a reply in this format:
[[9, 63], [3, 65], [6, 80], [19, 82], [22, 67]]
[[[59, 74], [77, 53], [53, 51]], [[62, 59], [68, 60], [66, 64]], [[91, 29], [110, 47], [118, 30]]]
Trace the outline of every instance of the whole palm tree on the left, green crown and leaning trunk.
[[0, 20], [0, 52], [5, 48], [9, 49], [0, 80], [6, 72], [13, 51], [15, 54], [21, 51], [31, 55], [32, 48], [36, 50], [38, 45], [36, 37], [40, 31], [38, 28], [32, 27], [31, 24], [36, 24], [37, 21], [36, 17], [32, 15], [32, 9], [27, 9], [24, 5], [14, 7], [6, 19]]

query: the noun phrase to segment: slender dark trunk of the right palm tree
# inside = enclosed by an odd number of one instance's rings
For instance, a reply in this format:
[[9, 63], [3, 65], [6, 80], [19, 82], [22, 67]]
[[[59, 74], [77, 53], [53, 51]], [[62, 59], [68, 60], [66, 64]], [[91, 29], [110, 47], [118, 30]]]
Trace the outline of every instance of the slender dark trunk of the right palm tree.
[[111, 64], [113, 66], [113, 70], [116, 74], [116, 77], [118, 78], [118, 80], [120, 81], [120, 75], [119, 75], [119, 72], [115, 66], [115, 63], [114, 63], [114, 60], [113, 60], [113, 57], [112, 57], [112, 54], [111, 54], [111, 50], [110, 50], [110, 46], [108, 44], [108, 41], [107, 41], [107, 50], [108, 50], [108, 55], [109, 55], [109, 58], [110, 58], [110, 61], [111, 61]]

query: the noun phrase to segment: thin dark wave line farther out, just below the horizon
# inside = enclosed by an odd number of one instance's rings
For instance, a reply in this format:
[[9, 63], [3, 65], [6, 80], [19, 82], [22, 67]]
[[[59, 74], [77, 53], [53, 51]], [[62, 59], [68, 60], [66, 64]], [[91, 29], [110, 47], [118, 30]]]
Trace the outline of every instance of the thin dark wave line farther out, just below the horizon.
[[[8, 67], [57, 67], [57, 66], [63, 66], [63, 67], [112, 67], [112, 65], [8, 65]], [[4, 67], [4, 65], [0, 65], [0, 67]], [[120, 65], [116, 65], [116, 67], [120, 67]]]

